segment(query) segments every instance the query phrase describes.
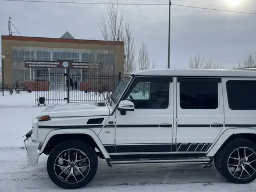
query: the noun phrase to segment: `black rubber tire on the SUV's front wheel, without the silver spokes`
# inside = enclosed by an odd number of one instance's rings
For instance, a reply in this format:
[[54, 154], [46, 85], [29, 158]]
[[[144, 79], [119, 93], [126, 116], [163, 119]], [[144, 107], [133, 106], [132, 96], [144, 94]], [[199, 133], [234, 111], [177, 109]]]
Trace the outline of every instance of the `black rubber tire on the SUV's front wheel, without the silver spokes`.
[[[70, 150], [69, 150], [70, 149]], [[83, 174], [81, 174], [84, 179], [81, 180], [77, 180], [76, 179], [76, 183], [67, 183], [64, 182], [61, 177], [58, 177], [58, 175], [56, 175], [57, 173], [57, 169], [59, 170], [61, 167], [55, 165], [55, 161], [58, 158], [58, 156], [60, 154], [62, 154], [63, 151], [73, 151], [72, 149], [76, 149], [79, 150], [81, 152], [83, 152], [86, 155], [86, 159], [84, 161], [88, 161], [88, 168], [86, 168], [86, 176], [84, 176]], [[71, 152], [70, 152], [71, 153]], [[82, 154], [83, 155], [83, 154]], [[69, 155], [70, 156], [70, 155]], [[71, 158], [70, 158], [71, 159]], [[71, 161], [71, 160], [70, 160]], [[81, 160], [79, 160], [81, 161]], [[64, 161], [63, 161], [64, 162]], [[67, 163], [67, 162], [66, 162]], [[59, 164], [59, 163], [58, 163]], [[76, 163], [77, 164], [77, 163]], [[68, 164], [69, 165], [69, 164]], [[74, 163], [73, 163], [74, 165]], [[72, 166], [73, 166], [72, 165]], [[71, 166], [71, 163], [70, 163]], [[56, 169], [55, 169], [56, 168]], [[68, 168], [70, 169], [76, 169], [76, 168]], [[56, 145], [56, 147], [54, 147], [54, 149], [51, 151], [51, 153], [49, 154], [49, 157], [47, 159], [47, 172], [48, 175], [50, 177], [50, 179], [52, 180], [52, 182], [54, 182], [57, 186], [63, 188], [63, 189], [79, 189], [81, 187], [86, 186], [88, 183], [91, 182], [91, 180], [93, 180], [96, 172], [98, 169], [98, 157], [97, 154], [94, 150], [94, 148], [92, 148], [90, 145], [88, 145], [87, 143], [84, 143], [83, 141], [79, 141], [79, 140], [69, 140], [69, 141], [64, 141], [58, 145]], [[67, 170], [67, 169], [66, 169]], [[67, 172], [69, 171], [67, 170]], [[81, 169], [80, 173], [81, 173]], [[61, 170], [62, 171], [62, 170]], [[71, 171], [70, 171], [71, 172]], [[70, 175], [70, 172], [65, 174], [66, 175]], [[78, 170], [77, 170], [78, 173]], [[83, 173], [83, 172], [82, 172]], [[72, 176], [72, 175], [70, 175]], [[75, 177], [73, 177], [75, 179]], [[77, 182], [78, 181], [78, 182]]]

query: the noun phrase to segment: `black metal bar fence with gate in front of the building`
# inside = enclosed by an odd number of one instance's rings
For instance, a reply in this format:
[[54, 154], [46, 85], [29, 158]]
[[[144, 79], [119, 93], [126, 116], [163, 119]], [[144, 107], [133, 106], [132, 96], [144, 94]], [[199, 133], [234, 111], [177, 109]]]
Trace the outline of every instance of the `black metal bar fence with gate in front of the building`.
[[69, 102], [102, 101], [112, 93], [120, 81], [119, 74], [80, 74], [55, 70], [37, 73], [30, 82], [35, 104], [65, 104]]

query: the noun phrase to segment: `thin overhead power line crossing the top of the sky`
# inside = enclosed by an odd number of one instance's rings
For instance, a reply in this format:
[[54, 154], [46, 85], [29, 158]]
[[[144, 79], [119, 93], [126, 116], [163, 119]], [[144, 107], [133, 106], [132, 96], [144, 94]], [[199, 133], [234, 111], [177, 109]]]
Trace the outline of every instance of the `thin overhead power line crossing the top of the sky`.
[[[61, 1], [41, 1], [41, 0], [2, 0], [2, 1], [13, 1], [13, 2], [34, 2], [34, 3], [62, 3], [62, 4], [86, 4], [86, 5], [114, 5], [115, 3], [99, 3], [99, 2], [61, 2]], [[118, 3], [118, 5], [169, 5], [169, 3]], [[235, 10], [225, 10], [225, 9], [213, 9], [213, 8], [203, 8], [198, 6], [189, 6], [189, 5], [179, 5], [172, 4], [172, 6], [181, 6], [185, 8], [193, 9], [205, 9], [205, 10], [215, 10], [220, 12], [230, 12], [230, 13], [240, 13], [247, 15], [256, 15], [256, 13], [251, 12], [240, 12]]]

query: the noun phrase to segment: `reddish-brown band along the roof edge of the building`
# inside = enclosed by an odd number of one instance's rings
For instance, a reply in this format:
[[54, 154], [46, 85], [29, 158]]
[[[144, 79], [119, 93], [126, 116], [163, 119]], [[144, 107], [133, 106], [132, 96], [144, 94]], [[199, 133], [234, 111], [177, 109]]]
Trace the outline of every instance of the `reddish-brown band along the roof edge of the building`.
[[80, 40], [70, 38], [49, 38], [49, 37], [24, 37], [2, 35], [2, 41], [35, 41], [35, 42], [58, 42], [72, 44], [98, 44], [98, 45], [124, 45], [123, 41], [99, 41], [99, 40]]

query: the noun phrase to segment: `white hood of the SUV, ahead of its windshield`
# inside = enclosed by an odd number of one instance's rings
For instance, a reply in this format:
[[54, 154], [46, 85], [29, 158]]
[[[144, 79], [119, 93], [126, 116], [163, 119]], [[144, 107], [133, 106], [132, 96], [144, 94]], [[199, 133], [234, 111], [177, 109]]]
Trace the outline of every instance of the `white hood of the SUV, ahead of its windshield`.
[[37, 118], [40, 118], [42, 115], [49, 115], [50, 118], [62, 118], [70, 116], [105, 116], [109, 114], [109, 108], [105, 101], [92, 101], [49, 106]]

